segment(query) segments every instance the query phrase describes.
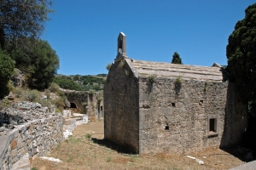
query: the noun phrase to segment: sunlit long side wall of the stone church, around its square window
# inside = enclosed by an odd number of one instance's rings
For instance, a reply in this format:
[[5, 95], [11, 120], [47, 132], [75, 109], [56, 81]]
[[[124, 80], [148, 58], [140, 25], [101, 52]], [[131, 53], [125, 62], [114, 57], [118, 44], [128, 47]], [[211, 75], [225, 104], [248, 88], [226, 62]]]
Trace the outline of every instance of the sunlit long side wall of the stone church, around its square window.
[[[228, 99], [233, 103], [227, 104], [227, 89], [228, 82], [182, 80], [178, 85], [177, 79], [158, 77], [151, 83], [148, 77], [140, 77], [139, 153], [189, 154], [219, 147], [222, 141], [239, 142], [239, 139], [224, 136], [224, 127], [241, 124], [237, 129], [230, 127], [228, 133], [231, 136], [246, 127], [239, 111], [236, 111], [237, 117], [232, 116], [234, 110], [230, 110], [236, 102]], [[234, 91], [231, 89], [230, 93]], [[226, 104], [230, 108], [228, 112], [225, 112]], [[211, 117], [217, 119], [218, 132], [215, 135], [208, 132]], [[229, 121], [225, 121], [227, 117]]]

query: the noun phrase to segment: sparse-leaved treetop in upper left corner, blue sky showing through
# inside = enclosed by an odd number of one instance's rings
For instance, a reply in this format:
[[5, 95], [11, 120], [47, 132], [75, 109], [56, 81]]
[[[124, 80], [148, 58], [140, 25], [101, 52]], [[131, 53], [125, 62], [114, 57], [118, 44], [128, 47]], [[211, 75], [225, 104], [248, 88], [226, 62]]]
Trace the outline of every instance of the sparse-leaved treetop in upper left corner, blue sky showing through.
[[39, 37], [53, 12], [51, 0], [0, 0], [0, 45], [17, 37]]

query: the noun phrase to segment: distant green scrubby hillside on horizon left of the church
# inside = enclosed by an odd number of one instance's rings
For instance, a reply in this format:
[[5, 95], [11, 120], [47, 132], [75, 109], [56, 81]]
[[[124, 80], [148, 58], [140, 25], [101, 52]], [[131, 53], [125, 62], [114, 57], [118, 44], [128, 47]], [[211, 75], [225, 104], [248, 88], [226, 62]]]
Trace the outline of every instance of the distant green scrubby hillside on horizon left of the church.
[[106, 82], [107, 74], [98, 75], [55, 75], [54, 82], [61, 88], [89, 91], [90, 89], [95, 91], [103, 90], [104, 83]]

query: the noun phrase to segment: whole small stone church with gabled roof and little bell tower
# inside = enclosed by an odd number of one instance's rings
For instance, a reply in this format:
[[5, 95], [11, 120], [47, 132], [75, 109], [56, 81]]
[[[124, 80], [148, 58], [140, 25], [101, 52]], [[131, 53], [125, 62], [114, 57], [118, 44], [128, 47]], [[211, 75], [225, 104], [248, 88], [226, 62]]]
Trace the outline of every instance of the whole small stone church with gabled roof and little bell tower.
[[104, 88], [104, 137], [139, 154], [180, 155], [239, 144], [247, 105], [218, 64], [130, 59], [120, 32]]

